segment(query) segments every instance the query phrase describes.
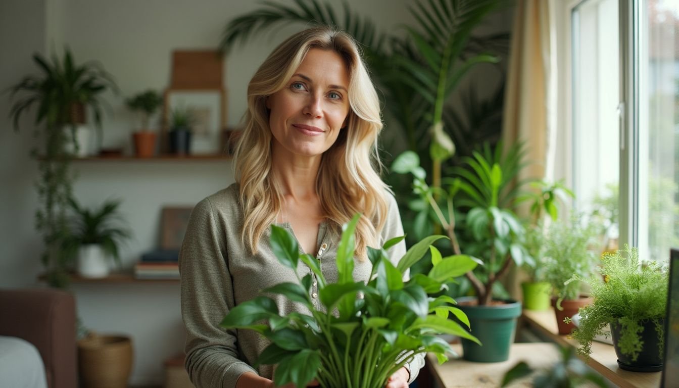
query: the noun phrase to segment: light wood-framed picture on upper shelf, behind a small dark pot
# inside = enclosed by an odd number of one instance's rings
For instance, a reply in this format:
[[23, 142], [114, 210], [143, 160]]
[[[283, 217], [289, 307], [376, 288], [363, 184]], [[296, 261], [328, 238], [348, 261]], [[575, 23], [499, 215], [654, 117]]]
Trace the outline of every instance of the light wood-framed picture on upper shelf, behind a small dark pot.
[[226, 124], [226, 94], [223, 89], [168, 89], [164, 103], [164, 147], [167, 145], [172, 111], [185, 109], [192, 122], [191, 154], [221, 154], [221, 136]]

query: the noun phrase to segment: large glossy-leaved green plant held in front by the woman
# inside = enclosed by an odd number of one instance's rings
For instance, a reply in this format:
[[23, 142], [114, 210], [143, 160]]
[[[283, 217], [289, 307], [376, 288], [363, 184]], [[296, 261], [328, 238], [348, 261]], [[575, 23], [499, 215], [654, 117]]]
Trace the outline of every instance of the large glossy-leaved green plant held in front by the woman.
[[[297, 241], [287, 230], [272, 226], [272, 249], [284, 266], [297, 273], [308, 266], [309, 275], [299, 283], [281, 283], [263, 292], [281, 294], [306, 306], [311, 315], [291, 313], [282, 317], [276, 304], [259, 296], [238, 304], [221, 325], [230, 329], [256, 330], [272, 343], [258, 364], [278, 364], [274, 383], [297, 387], [316, 378], [324, 388], [382, 388], [394, 372], [418, 353], [433, 352], [440, 362], [452, 349], [436, 334], [454, 334], [478, 340], [458, 323], [469, 325], [455, 301], [441, 294], [452, 278], [477, 265], [466, 255], [433, 258], [428, 275], [403, 281], [403, 274], [422, 259], [431, 243], [445, 236], [429, 236], [411, 247], [394, 266], [386, 249], [403, 237], [387, 241], [381, 249], [368, 248], [372, 271], [367, 283], [354, 281], [354, 228], [359, 215], [343, 227], [337, 248], [337, 283], [327, 283], [313, 256], [299, 253]], [[299, 277], [299, 275], [298, 275]], [[318, 298], [325, 311], [314, 308], [312, 280], [318, 281]], [[363, 298], [361, 298], [363, 296]], [[434, 297], [435, 296], [435, 297]], [[337, 314], [333, 314], [337, 311]], [[262, 324], [268, 321], [268, 325]]]

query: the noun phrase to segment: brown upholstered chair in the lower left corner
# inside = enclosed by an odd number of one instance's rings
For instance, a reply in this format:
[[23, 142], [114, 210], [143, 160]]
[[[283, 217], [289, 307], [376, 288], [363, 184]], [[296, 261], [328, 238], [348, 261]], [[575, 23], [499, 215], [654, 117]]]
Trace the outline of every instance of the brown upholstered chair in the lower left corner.
[[0, 289], [0, 335], [40, 352], [48, 387], [77, 387], [75, 299], [57, 289]]

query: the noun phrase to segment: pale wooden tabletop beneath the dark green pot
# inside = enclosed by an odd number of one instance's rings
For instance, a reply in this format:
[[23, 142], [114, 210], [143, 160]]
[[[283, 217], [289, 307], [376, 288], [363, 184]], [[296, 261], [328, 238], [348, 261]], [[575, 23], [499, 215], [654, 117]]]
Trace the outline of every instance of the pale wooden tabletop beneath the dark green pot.
[[[462, 345], [452, 345], [462, 355]], [[427, 355], [427, 364], [439, 388], [497, 388], [502, 377], [519, 361], [526, 361], [535, 370], [548, 368], [559, 359], [559, 351], [551, 342], [515, 343], [509, 350], [509, 360], [502, 362], [472, 362], [449, 359], [442, 365], [433, 354]], [[509, 387], [532, 387], [532, 376], [515, 381]]]

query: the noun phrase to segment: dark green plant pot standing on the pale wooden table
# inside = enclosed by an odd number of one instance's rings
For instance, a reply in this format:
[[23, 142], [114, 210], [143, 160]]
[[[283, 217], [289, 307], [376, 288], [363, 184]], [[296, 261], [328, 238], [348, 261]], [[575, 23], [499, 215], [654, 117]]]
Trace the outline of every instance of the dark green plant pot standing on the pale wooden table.
[[[462, 358], [475, 362], [502, 362], [509, 359], [509, 347], [514, 342], [517, 318], [521, 315], [521, 302], [502, 300], [503, 304], [491, 306], [465, 305], [475, 296], [455, 298], [471, 325], [471, 334], [483, 346], [461, 338]], [[462, 324], [464, 327], [464, 324]]]

